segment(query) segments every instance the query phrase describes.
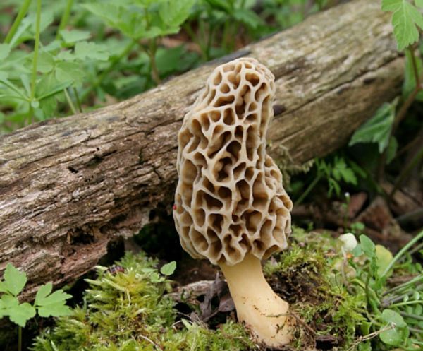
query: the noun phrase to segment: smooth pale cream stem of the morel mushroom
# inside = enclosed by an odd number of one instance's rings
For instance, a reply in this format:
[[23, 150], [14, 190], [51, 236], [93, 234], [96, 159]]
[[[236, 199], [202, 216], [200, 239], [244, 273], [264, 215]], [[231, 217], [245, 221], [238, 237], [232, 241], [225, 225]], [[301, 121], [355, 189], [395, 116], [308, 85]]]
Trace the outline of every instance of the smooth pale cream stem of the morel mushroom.
[[275, 294], [264, 279], [259, 258], [247, 254], [233, 266], [220, 265], [228, 282], [238, 320], [269, 347], [290, 342], [293, 321], [288, 316], [289, 305]]

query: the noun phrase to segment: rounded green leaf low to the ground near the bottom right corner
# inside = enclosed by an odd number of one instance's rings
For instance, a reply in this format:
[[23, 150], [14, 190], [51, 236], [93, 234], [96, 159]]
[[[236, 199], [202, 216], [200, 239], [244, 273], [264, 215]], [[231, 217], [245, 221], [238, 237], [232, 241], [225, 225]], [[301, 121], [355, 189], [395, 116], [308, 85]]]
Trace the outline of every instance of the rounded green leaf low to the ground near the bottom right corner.
[[[381, 314], [381, 319], [386, 323], [381, 327], [379, 337], [386, 345], [399, 346], [407, 340], [410, 331], [407, 323], [400, 314], [392, 309], [384, 309]], [[389, 327], [392, 329], [384, 330]]]

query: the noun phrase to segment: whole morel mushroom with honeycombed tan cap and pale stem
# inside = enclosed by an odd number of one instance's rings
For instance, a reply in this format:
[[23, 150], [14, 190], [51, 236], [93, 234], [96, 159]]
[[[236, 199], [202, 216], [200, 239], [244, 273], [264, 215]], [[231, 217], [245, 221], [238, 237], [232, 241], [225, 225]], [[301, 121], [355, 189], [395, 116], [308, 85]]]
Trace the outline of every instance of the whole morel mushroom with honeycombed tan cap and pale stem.
[[289, 343], [293, 324], [260, 261], [285, 249], [290, 233], [292, 202], [266, 155], [274, 90], [255, 59], [213, 71], [178, 134], [173, 211], [183, 249], [221, 267], [238, 319], [270, 347]]

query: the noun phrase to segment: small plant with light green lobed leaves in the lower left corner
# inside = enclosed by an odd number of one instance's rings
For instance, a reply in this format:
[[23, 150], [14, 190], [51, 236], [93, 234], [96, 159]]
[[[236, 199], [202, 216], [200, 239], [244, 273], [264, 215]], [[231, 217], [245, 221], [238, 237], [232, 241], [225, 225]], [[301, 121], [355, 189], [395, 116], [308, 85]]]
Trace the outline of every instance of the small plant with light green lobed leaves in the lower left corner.
[[38, 312], [40, 317], [67, 316], [71, 309], [66, 306], [66, 300], [71, 295], [63, 290], [56, 290], [51, 293], [53, 284], [48, 282], [39, 287], [33, 304], [28, 302], [20, 303], [18, 295], [23, 291], [27, 283], [27, 275], [20, 272], [11, 263], [8, 263], [4, 271], [4, 278], [0, 280], [0, 319], [8, 318], [18, 325], [18, 350], [22, 349], [22, 328], [26, 322]]

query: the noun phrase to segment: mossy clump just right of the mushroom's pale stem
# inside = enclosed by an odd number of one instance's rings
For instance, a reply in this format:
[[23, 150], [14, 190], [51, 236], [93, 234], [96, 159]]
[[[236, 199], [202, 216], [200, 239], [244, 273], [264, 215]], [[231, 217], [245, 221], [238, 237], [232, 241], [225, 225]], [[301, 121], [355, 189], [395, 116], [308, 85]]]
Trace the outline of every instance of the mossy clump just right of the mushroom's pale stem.
[[324, 340], [326, 347], [346, 350], [365, 321], [364, 298], [338, 283], [341, 273], [333, 267], [340, 255], [329, 235], [295, 229], [290, 249], [264, 267], [271, 286], [300, 319], [295, 349]]

